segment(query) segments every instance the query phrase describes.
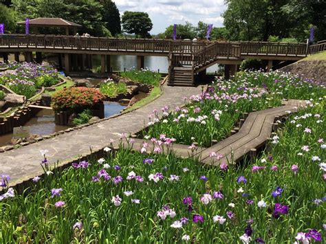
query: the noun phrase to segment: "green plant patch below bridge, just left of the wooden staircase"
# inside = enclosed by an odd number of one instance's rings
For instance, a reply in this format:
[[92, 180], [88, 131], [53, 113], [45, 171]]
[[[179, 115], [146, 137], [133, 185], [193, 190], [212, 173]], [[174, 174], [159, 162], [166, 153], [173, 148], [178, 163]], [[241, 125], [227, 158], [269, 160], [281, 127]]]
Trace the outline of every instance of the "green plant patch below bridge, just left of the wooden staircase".
[[129, 70], [121, 72], [121, 76], [129, 78], [133, 81], [138, 81], [142, 84], [158, 86], [160, 85], [161, 74], [155, 73], [149, 69]]

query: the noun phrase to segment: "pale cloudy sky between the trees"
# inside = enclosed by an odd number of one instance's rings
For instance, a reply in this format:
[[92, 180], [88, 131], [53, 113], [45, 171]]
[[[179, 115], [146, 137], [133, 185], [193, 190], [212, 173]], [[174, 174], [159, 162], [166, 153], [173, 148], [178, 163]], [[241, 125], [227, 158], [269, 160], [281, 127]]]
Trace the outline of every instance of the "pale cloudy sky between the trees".
[[151, 34], [165, 31], [173, 24], [198, 21], [223, 26], [221, 14], [226, 10], [224, 0], [115, 0], [122, 16], [124, 11], [147, 12], [153, 23]]

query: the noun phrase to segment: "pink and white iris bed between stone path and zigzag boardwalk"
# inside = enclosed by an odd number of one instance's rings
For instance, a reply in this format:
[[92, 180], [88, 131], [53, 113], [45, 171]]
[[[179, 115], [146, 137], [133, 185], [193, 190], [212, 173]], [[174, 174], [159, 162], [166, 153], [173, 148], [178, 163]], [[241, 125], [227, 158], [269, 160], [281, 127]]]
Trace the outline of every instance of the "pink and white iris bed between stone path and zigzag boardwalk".
[[158, 138], [164, 134], [179, 144], [210, 146], [212, 140], [228, 137], [243, 113], [280, 106], [283, 98], [305, 99], [313, 94], [323, 97], [325, 90], [289, 74], [240, 73], [233, 81], [217, 80], [208, 91], [189, 98], [183, 109], [163, 107], [162, 118], [154, 110], [143, 135]]

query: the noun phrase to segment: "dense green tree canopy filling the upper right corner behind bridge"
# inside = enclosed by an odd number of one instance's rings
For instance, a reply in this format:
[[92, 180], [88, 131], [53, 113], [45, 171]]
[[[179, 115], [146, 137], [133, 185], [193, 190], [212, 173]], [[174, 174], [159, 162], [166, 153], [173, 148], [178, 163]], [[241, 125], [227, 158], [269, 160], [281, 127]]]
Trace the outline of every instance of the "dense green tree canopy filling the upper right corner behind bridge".
[[318, 0], [226, 0], [224, 25], [229, 40], [268, 41], [270, 36], [304, 41], [309, 29], [325, 38], [326, 3]]

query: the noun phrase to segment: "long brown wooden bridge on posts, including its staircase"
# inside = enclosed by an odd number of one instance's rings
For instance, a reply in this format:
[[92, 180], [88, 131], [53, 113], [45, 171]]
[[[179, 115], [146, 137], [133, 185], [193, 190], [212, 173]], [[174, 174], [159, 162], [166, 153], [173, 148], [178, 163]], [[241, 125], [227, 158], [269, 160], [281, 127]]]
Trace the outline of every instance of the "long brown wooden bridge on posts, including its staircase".
[[[91, 67], [90, 55], [101, 56], [101, 71], [111, 71], [110, 55], [137, 56], [138, 69], [144, 67], [144, 56], [167, 56], [169, 58], [169, 85], [195, 85], [195, 74], [205, 74], [216, 63], [226, 65], [226, 76], [235, 74], [245, 58], [268, 60], [268, 69], [273, 60], [299, 60], [312, 52], [326, 49], [325, 43], [308, 46], [305, 43], [269, 42], [210, 42], [171, 41], [157, 39], [75, 37], [54, 35], [0, 35], [0, 53], [8, 60], [8, 53], [25, 54], [25, 60], [42, 61], [42, 52], [58, 54], [59, 66], [62, 56], [66, 71], [78, 71]], [[72, 66], [72, 67], [71, 67]]]

